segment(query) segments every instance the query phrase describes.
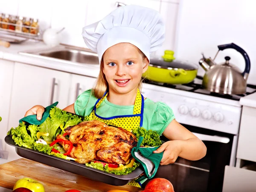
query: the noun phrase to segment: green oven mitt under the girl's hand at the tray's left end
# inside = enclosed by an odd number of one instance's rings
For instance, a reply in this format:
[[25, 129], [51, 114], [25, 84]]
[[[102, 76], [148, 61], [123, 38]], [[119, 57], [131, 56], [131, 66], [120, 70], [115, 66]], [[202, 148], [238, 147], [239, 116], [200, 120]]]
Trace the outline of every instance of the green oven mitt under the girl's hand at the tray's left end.
[[42, 115], [42, 119], [41, 120], [36, 119], [36, 115], [29, 115], [29, 116], [25, 116], [22, 119], [20, 119], [19, 122], [21, 123], [21, 122], [25, 121], [25, 122], [28, 122], [28, 123], [30, 123], [32, 125], [40, 125], [50, 115], [49, 112], [50, 112], [51, 108], [55, 107], [57, 104], [58, 104], [58, 102], [55, 102], [52, 105], [49, 105], [48, 107], [46, 107], [44, 109], [44, 113]]

